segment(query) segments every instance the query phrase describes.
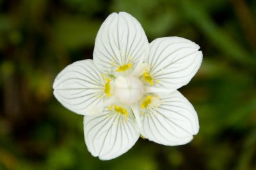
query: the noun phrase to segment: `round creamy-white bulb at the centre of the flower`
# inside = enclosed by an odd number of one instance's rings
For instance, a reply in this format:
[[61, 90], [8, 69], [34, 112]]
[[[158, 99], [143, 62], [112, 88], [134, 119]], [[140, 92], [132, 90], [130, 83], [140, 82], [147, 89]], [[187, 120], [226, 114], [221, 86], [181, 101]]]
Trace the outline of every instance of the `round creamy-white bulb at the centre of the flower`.
[[115, 95], [121, 103], [132, 104], [143, 97], [143, 83], [133, 76], [119, 76], [115, 81]]

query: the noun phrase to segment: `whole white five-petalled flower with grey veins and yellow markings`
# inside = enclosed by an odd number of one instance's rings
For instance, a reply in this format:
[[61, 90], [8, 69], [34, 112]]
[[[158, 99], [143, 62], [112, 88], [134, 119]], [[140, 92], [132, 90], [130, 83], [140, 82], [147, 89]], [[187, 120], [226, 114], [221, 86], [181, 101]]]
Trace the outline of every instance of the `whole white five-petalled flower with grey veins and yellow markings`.
[[199, 48], [179, 37], [148, 43], [136, 18], [111, 13], [97, 34], [93, 60], [65, 67], [54, 81], [54, 96], [84, 115], [86, 145], [99, 159], [127, 152], [140, 134], [162, 145], [184, 145], [199, 124], [177, 89], [198, 71]]

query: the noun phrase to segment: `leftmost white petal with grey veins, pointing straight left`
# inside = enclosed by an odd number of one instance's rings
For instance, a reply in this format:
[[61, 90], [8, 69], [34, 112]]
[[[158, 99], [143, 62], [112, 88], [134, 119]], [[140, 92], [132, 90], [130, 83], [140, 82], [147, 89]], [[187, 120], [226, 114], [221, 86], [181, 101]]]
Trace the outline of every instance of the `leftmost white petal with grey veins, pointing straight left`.
[[[65, 67], [53, 84], [54, 96], [68, 110], [86, 115], [103, 103], [104, 79], [93, 60], [81, 60]], [[91, 108], [88, 108], [90, 106]]]

